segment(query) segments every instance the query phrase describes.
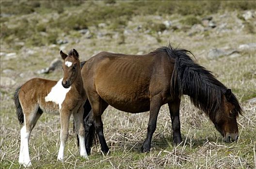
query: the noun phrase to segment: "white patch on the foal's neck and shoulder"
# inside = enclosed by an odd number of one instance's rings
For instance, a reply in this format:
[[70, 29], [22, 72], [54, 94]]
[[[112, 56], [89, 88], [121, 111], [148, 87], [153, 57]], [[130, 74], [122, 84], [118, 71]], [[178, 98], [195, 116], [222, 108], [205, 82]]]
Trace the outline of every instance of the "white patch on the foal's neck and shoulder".
[[45, 101], [53, 101], [56, 104], [59, 105], [59, 109], [61, 109], [61, 105], [66, 97], [67, 92], [71, 89], [71, 86], [69, 88], [64, 88], [62, 86], [62, 79], [60, 79], [55, 86], [51, 88], [50, 93], [48, 93], [47, 97], [45, 97]]

